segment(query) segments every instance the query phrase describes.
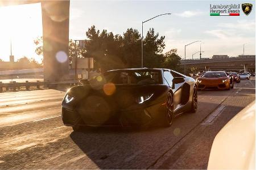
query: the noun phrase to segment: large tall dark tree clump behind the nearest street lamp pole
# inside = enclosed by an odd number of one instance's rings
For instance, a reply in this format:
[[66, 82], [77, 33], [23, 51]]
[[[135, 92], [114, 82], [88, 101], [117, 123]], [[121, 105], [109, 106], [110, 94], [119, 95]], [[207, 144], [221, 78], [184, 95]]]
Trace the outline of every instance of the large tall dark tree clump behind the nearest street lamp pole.
[[[93, 25], [86, 32], [89, 39], [85, 57], [94, 57], [96, 67], [103, 70], [141, 67], [141, 34], [137, 29], [129, 28], [121, 35]], [[144, 66], [160, 67], [164, 49], [164, 36], [150, 29], [144, 39]]]

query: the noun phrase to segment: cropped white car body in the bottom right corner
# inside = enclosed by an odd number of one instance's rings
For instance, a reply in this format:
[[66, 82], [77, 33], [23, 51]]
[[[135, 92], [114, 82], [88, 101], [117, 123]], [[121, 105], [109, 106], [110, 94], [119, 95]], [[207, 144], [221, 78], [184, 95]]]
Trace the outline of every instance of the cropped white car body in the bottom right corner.
[[255, 101], [216, 135], [208, 169], [255, 169]]

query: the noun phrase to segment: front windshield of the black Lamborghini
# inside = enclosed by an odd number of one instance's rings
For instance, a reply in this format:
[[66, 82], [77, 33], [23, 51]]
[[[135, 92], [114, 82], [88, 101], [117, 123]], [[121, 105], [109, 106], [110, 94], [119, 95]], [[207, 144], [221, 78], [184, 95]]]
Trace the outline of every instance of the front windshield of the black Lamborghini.
[[160, 74], [160, 71], [108, 71], [90, 80], [90, 84], [160, 84]]

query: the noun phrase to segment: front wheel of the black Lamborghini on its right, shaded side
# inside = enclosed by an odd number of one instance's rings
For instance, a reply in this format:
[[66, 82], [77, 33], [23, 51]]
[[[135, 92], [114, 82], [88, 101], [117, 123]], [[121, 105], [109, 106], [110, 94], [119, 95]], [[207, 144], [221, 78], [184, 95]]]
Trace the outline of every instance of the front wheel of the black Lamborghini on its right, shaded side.
[[163, 116], [163, 126], [170, 127], [174, 120], [174, 96], [168, 92], [166, 99], [166, 112]]

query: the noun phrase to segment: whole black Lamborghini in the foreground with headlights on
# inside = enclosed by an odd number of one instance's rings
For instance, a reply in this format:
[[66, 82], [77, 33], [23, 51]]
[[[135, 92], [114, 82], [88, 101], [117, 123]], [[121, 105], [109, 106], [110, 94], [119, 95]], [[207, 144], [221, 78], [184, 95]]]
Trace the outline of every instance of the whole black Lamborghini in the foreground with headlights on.
[[68, 90], [62, 103], [64, 125], [171, 126], [176, 114], [196, 112], [193, 78], [168, 69], [107, 71]]

